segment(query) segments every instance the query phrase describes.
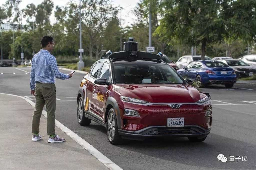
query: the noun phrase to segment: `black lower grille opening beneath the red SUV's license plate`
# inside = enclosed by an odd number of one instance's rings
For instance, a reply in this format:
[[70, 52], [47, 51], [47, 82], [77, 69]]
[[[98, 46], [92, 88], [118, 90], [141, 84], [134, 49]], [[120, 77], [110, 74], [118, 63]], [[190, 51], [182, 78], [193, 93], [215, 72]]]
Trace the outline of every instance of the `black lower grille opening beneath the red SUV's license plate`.
[[202, 134], [205, 130], [194, 127], [194, 126], [184, 126], [184, 127], [151, 127], [146, 129], [140, 134], [142, 135], [186, 135], [186, 134]]

